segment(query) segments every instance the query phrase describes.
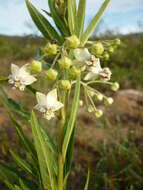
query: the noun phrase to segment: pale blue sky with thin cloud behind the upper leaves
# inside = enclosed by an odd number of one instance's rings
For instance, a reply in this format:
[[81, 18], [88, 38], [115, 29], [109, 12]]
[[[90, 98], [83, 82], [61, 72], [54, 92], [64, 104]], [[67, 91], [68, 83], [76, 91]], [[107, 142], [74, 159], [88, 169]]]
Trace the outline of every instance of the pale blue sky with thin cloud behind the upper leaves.
[[[48, 9], [48, 0], [31, 0], [39, 9]], [[87, 0], [86, 24], [96, 14], [104, 0]], [[143, 0], [111, 0], [99, 32], [143, 32]], [[27, 11], [24, 0], [0, 0], [0, 34], [25, 35], [37, 31]]]

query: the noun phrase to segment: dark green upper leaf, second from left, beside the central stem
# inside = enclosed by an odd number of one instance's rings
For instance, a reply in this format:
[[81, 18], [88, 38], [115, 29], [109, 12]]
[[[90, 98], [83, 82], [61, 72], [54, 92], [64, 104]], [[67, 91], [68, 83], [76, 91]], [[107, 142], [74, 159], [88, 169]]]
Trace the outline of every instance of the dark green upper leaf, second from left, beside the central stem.
[[67, 28], [64, 20], [62, 19], [61, 15], [59, 15], [59, 13], [55, 7], [55, 4], [56, 4], [55, 0], [48, 0], [48, 3], [49, 3], [49, 8], [51, 11], [52, 18], [53, 18], [57, 28], [61, 32], [62, 36], [63, 37], [69, 36], [68, 28]]

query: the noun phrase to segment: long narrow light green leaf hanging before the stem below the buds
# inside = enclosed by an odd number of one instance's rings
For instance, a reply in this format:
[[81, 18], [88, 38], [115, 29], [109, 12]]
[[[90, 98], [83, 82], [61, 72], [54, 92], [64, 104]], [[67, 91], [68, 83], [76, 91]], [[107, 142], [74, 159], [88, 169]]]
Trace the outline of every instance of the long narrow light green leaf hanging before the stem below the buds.
[[77, 82], [76, 82], [75, 94], [74, 94], [74, 99], [73, 99], [72, 109], [71, 109], [71, 115], [70, 115], [70, 119], [69, 119], [67, 129], [65, 132], [65, 136], [64, 136], [64, 140], [63, 140], [62, 153], [63, 153], [64, 159], [66, 157], [66, 153], [67, 153], [67, 149], [68, 149], [68, 146], [70, 143], [72, 132], [74, 130], [75, 119], [76, 119], [76, 114], [77, 114], [78, 105], [79, 105], [79, 96], [80, 96], [80, 77], [77, 79]]

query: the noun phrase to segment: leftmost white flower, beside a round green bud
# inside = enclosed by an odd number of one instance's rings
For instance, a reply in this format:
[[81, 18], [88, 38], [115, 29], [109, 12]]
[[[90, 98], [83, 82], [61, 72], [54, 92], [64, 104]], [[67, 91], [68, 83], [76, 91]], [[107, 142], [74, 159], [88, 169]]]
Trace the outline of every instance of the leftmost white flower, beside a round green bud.
[[11, 74], [9, 75], [9, 83], [14, 85], [14, 88], [19, 88], [21, 91], [25, 86], [32, 84], [37, 79], [33, 77], [27, 69], [28, 64], [19, 68], [15, 64], [11, 64]]

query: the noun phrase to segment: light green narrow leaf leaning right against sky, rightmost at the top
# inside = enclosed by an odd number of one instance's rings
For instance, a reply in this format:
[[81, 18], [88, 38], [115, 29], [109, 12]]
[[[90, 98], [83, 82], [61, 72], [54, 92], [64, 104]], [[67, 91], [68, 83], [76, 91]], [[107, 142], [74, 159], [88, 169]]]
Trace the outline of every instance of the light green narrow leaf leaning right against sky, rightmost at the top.
[[94, 31], [96, 25], [98, 24], [98, 22], [100, 21], [102, 15], [103, 15], [105, 9], [107, 8], [109, 2], [110, 2], [110, 0], [105, 0], [104, 1], [104, 3], [102, 4], [101, 8], [98, 11], [98, 13], [95, 15], [95, 17], [90, 22], [89, 26], [87, 27], [85, 33], [82, 36], [82, 40], [81, 40], [81, 45], [82, 46], [87, 42], [87, 40], [89, 39], [90, 35]]

